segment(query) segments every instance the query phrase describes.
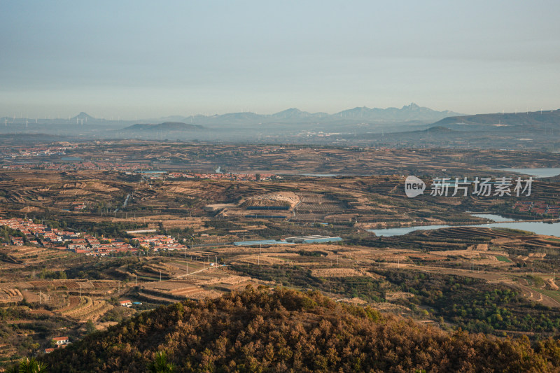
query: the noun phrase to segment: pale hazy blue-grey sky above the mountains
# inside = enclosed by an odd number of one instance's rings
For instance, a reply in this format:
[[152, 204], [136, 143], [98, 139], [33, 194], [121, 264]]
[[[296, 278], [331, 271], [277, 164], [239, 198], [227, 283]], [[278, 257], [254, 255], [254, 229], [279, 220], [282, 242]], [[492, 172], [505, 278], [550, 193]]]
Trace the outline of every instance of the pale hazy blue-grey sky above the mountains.
[[0, 116], [560, 108], [560, 1], [25, 1]]

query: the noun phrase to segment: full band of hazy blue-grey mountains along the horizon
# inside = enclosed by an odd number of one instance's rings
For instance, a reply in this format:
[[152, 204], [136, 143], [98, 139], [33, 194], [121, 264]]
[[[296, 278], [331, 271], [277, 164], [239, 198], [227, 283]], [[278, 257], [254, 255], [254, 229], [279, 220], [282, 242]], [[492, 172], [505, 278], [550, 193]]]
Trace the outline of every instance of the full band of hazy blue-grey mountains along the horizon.
[[1, 121], [4, 137], [49, 134], [80, 139], [560, 149], [560, 110], [463, 115], [413, 103], [402, 108], [356, 107], [335, 114], [288, 108], [267, 115], [243, 112], [132, 121], [79, 113], [67, 119]]

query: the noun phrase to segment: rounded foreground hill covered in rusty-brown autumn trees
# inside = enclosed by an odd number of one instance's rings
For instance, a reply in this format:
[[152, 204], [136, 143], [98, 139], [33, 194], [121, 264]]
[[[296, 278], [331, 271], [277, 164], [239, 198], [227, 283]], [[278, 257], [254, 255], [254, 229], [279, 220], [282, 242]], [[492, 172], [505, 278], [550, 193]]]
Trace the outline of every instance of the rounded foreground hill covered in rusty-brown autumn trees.
[[51, 372], [558, 372], [560, 343], [448, 333], [319, 293], [247, 289], [155, 309], [40, 360]]

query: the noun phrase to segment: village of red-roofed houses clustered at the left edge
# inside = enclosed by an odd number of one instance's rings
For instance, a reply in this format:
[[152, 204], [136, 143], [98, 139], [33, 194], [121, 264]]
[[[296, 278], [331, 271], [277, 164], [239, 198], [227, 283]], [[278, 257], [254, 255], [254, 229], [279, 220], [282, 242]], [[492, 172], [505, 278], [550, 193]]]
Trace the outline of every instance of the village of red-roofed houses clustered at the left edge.
[[[15, 246], [23, 246], [27, 241], [28, 245], [70, 250], [75, 253], [94, 256], [123, 252], [136, 253], [138, 250], [137, 247], [119, 239], [97, 239], [90, 234], [50, 228], [40, 223], [34, 223], [30, 219], [0, 219], [0, 225], [10, 227], [25, 235], [25, 240], [19, 236], [10, 237], [9, 244]], [[187, 246], [179, 244], [173, 237], [163, 234], [139, 237], [137, 240], [140, 248], [152, 248], [153, 251], [183, 250], [187, 248]]]

